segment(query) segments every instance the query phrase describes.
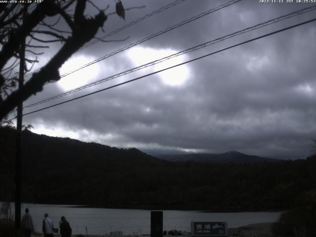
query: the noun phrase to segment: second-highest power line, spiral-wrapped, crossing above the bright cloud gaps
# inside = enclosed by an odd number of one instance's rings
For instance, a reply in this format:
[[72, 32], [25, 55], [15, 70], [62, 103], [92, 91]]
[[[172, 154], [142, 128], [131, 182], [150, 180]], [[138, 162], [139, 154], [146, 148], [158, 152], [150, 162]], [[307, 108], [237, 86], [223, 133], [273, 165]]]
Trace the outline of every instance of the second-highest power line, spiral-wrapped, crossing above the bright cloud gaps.
[[[167, 29], [165, 29], [165, 30], [159, 31], [159, 32], [157, 32], [157, 33], [155, 33], [155, 34], [153, 34], [153, 35], [151, 35], [151, 36], [149, 36], [149, 37], [146, 37], [146, 38], [144, 38], [144, 39], [142, 39], [142, 40], [138, 40], [138, 41], [136, 41], [136, 42], [134, 42], [134, 43], [131, 43], [131, 44], [127, 45], [127, 46], [124, 46], [124, 47], [122, 47], [122, 48], [120, 48], [120, 49], [118, 49], [118, 50], [116, 50], [116, 51], [114, 51], [114, 52], [112, 52], [112, 53], [106, 54], [106, 55], [104, 55], [103, 57], [100, 57], [100, 58], [98, 58], [98, 59], [96, 59], [96, 60], [94, 60], [94, 61], [92, 61], [92, 62], [89, 62], [89, 63], [87, 63], [87, 64], [81, 66], [81, 67], [78, 68], [78, 69], [75, 69], [75, 70], [73, 70], [73, 71], [71, 71], [71, 72], [65, 73], [65, 74], [61, 75], [60, 78], [66, 77], [66, 76], [68, 76], [68, 75], [70, 75], [70, 74], [72, 74], [72, 73], [75, 73], [75, 72], [77, 72], [77, 71], [79, 71], [79, 70], [81, 70], [81, 69], [83, 69], [83, 68], [86, 68], [86, 67], [88, 67], [88, 66], [90, 66], [90, 65], [92, 65], [92, 64], [95, 64], [95, 63], [100, 62], [100, 61], [102, 61], [102, 60], [104, 60], [104, 59], [106, 59], [106, 58], [109, 58], [109, 57], [111, 57], [111, 56], [113, 56], [113, 55], [116, 55], [116, 54], [118, 54], [118, 53], [120, 53], [120, 52], [122, 52], [122, 51], [124, 51], [124, 50], [126, 50], [126, 49], [128, 49], [128, 48], [131, 48], [131, 47], [133, 47], [133, 46], [136, 46], [137, 44], [140, 44], [140, 43], [145, 42], [145, 41], [147, 41], [147, 40], [151, 40], [151, 39], [153, 39], [153, 38], [155, 38], [155, 37], [157, 37], [157, 36], [159, 36], [159, 35], [162, 35], [162, 34], [164, 34], [164, 33], [166, 33], [166, 32], [169, 32], [169, 31], [171, 31], [171, 30], [174, 30], [174, 29], [176, 29], [176, 28], [178, 28], [178, 27], [180, 27], [180, 26], [183, 26], [183, 25], [188, 24], [188, 23], [190, 23], [190, 22], [192, 22], [192, 21], [195, 21], [195, 20], [197, 20], [197, 19], [199, 19], [199, 18], [201, 18], [201, 17], [203, 17], [203, 16], [206, 16], [206, 15], [208, 15], [208, 14], [210, 14], [210, 13], [213, 13], [213, 12], [215, 12], [215, 11], [218, 11], [218, 10], [220, 10], [220, 9], [222, 9], [222, 8], [225, 8], [225, 7], [227, 7], [227, 6], [230, 6], [230, 5], [232, 5], [232, 4], [235, 4], [235, 3], [237, 3], [238, 1], [241, 1], [241, 0], [231, 0], [231, 1], [227, 2], [227, 3], [225, 3], [225, 4], [219, 5], [219, 6], [217, 6], [217, 7], [215, 7], [215, 8], [212, 8], [212, 9], [210, 9], [210, 10], [208, 10], [208, 11], [202, 12], [202, 13], [198, 14], [197, 16], [191, 17], [190, 19], [187, 19], [187, 20], [182, 21], [182, 22], [180, 22], [180, 23], [178, 23], [178, 24], [175, 24], [175, 25], [173, 25], [173, 26], [171, 26], [171, 27], [169, 27], [169, 28], [167, 28]], [[31, 73], [31, 74], [32, 74], [32, 73]], [[31, 74], [29, 74], [29, 75], [31, 75]], [[47, 82], [47, 83], [49, 83], [49, 82]], [[47, 84], [47, 83], [45, 83], [45, 84]]]

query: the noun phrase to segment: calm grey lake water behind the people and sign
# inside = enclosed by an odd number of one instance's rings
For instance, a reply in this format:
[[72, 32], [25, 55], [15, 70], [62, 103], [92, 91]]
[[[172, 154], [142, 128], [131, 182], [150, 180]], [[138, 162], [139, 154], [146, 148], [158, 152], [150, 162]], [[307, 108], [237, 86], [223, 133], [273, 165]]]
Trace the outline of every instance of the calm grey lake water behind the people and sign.
[[[122, 231], [124, 235], [150, 234], [150, 210], [81, 208], [69, 205], [46, 205], [23, 203], [30, 209], [35, 229], [41, 232], [44, 213], [48, 213], [54, 226], [58, 227], [61, 216], [69, 221], [73, 234], [105, 235], [111, 231]], [[14, 203], [11, 203], [14, 214]], [[200, 211], [163, 211], [163, 230], [190, 231], [191, 221], [226, 221], [228, 228], [240, 227], [253, 223], [274, 222], [280, 212], [237, 212], [205, 213]], [[85, 229], [87, 228], [87, 229]]]

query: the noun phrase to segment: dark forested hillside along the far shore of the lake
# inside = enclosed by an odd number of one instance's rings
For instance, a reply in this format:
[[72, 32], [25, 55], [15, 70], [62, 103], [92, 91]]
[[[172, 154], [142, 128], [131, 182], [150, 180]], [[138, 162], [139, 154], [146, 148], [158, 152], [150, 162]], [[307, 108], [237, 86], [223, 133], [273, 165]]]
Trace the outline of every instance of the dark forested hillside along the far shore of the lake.
[[[0, 182], [4, 182], [14, 178], [14, 130], [2, 128], [0, 138], [4, 155]], [[315, 156], [251, 164], [174, 163], [134, 148], [117, 149], [30, 131], [23, 132], [22, 167], [23, 201], [35, 203], [280, 210], [296, 205], [302, 194], [316, 189]], [[8, 198], [4, 191], [1, 199]]]

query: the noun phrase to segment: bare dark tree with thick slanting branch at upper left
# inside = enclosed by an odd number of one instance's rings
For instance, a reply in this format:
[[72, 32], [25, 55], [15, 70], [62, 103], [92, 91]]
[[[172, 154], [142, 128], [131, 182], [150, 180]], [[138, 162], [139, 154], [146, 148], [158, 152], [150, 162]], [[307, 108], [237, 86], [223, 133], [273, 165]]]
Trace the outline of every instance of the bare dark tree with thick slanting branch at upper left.
[[[87, 3], [96, 9], [95, 16], [84, 14]], [[45, 83], [60, 79], [58, 69], [62, 64], [102, 29], [107, 20], [106, 9], [99, 9], [90, 0], [0, 4], [0, 121], [5, 121], [19, 103], [40, 92]], [[47, 23], [54, 19], [55, 22]], [[58, 28], [62, 21], [67, 23], [69, 30]], [[43, 53], [38, 50], [48, 48], [47, 44], [52, 42], [61, 42], [62, 46], [49, 62], [32, 74], [21, 90], [17, 90], [15, 69], [19, 65], [20, 45], [25, 40], [25, 72], [38, 62], [37, 55]]]

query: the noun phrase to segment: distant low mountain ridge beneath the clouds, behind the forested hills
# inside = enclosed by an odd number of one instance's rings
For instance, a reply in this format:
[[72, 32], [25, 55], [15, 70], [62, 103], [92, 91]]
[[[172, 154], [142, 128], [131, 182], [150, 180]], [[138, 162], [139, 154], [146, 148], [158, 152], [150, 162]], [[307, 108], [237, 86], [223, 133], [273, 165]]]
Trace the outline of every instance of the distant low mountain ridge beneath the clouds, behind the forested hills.
[[220, 154], [198, 153], [198, 154], [175, 154], [175, 155], [159, 155], [157, 158], [165, 159], [173, 162], [195, 161], [203, 163], [260, 163], [274, 162], [279, 159], [265, 158], [258, 156], [246, 155], [237, 151], [229, 151]]

